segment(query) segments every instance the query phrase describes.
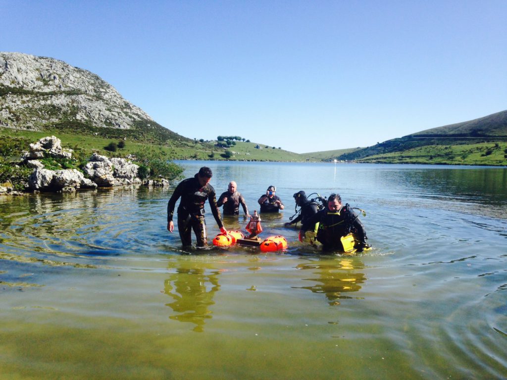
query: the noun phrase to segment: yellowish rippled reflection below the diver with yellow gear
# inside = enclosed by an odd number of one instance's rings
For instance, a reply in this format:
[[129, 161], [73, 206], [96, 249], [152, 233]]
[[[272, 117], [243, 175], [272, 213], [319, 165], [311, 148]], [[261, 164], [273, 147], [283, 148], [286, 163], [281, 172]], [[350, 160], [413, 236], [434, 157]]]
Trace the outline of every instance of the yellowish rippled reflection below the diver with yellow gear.
[[355, 292], [366, 281], [364, 273], [355, 270], [363, 269], [364, 264], [357, 259], [322, 258], [307, 264], [299, 264], [298, 269], [310, 270], [318, 277], [305, 278], [305, 281], [317, 282], [313, 286], [294, 286], [296, 289], [308, 289], [313, 293], [323, 293], [330, 305], [340, 305], [338, 299], [352, 298], [342, 293]]

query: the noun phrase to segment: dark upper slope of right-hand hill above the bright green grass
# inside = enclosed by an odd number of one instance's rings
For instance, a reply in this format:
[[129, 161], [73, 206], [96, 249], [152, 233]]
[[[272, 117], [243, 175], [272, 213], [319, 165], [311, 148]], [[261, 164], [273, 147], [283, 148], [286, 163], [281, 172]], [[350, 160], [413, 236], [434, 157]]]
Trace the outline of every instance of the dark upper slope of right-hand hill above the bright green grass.
[[467, 122], [426, 129], [336, 157], [353, 161], [370, 156], [402, 152], [426, 145], [459, 145], [488, 140], [507, 140], [507, 110]]

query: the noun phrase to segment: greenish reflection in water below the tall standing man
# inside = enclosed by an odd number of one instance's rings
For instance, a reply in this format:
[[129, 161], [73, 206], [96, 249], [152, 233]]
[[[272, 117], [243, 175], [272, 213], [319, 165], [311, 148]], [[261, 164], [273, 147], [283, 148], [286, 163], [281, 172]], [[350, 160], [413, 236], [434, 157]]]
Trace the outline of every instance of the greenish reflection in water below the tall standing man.
[[166, 303], [175, 312], [169, 318], [194, 323], [194, 331], [202, 332], [205, 319], [210, 319], [212, 314], [208, 307], [214, 305], [214, 293], [220, 289], [219, 271], [206, 273], [214, 268], [199, 261], [169, 263], [169, 268], [176, 266], [176, 272], [164, 282], [164, 293], [174, 299], [174, 302]]

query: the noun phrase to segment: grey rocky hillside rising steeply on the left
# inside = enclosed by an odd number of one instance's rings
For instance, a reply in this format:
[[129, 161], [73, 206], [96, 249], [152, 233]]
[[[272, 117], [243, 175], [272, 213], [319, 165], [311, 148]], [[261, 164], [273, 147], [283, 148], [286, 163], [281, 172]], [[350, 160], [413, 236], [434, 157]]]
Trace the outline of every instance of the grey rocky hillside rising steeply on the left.
[[188, 140], [157, 124], [98, 75], [21, 53], [0, 52], [0, 127]]

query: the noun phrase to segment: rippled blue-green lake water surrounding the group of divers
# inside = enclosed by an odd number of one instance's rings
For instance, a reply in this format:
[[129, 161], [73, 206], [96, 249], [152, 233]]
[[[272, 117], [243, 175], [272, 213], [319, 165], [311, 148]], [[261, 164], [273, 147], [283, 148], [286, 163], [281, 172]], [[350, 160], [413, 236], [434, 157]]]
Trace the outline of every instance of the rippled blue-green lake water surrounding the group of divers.
[[[251, 211], [276, 185], [288, 250], [183, 251], [172, 186], [0, 197], [2, 380], [507, 377], [507, 169], [180, 163]], [[301, 189], [364, 209], [374, 249], [299, 243]]]

